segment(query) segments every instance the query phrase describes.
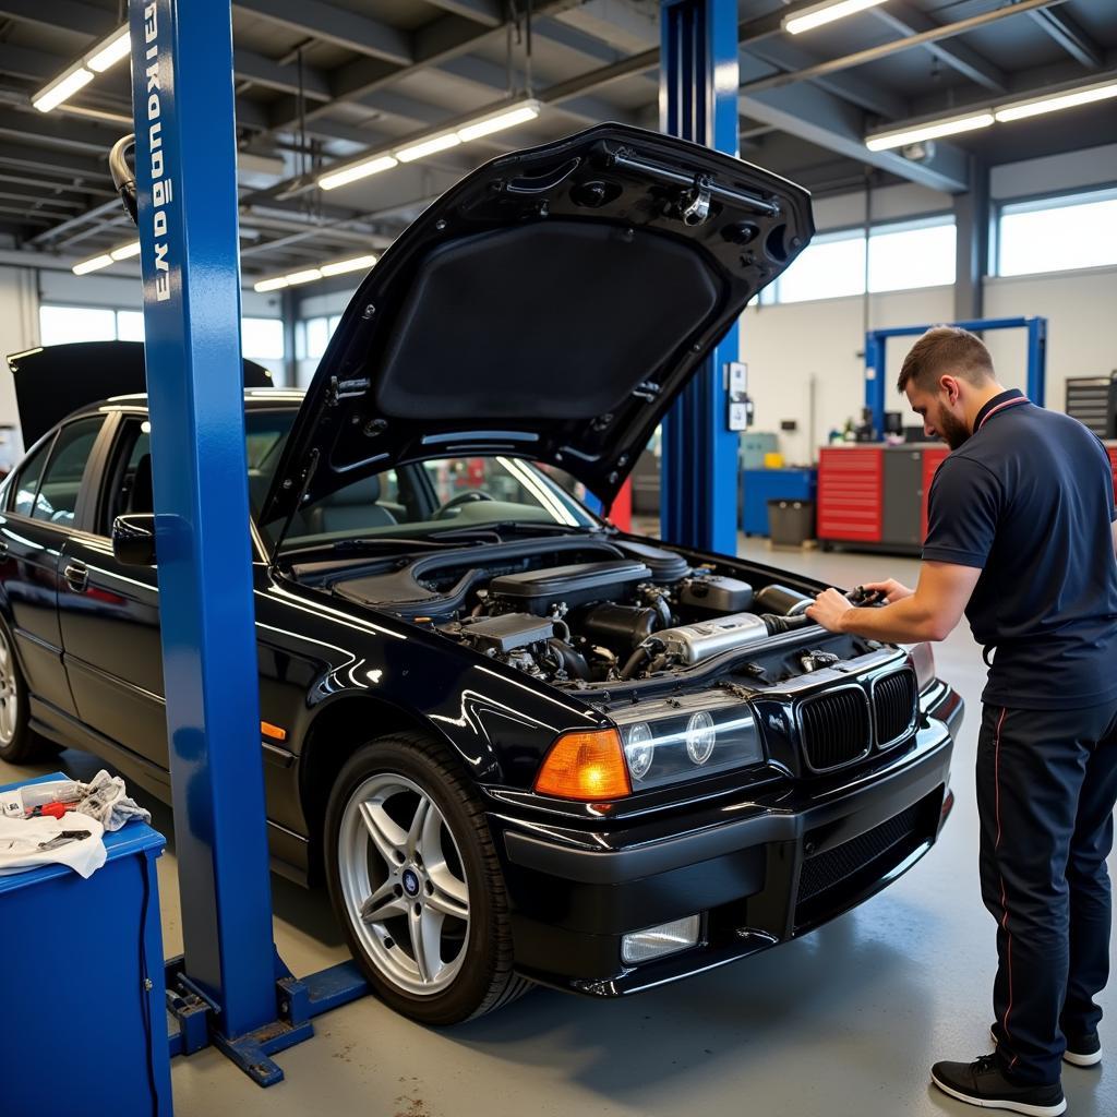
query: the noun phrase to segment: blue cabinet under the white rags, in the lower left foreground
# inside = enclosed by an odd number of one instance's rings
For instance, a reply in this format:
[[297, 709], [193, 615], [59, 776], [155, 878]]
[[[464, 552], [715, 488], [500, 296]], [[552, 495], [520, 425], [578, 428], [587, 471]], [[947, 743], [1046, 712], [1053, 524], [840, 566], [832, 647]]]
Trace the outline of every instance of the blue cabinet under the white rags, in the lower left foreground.
[[0, 876], [0, 1111], [171, 1113], [163, 846], [130, 822], [87, 880], [59, 865]]

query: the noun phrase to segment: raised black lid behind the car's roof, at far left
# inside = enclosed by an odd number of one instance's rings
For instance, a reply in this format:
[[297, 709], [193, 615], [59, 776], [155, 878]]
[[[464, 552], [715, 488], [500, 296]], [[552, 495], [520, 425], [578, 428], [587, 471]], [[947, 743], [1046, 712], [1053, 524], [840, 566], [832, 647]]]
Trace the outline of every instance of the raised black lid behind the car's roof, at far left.
[[[30, 449], [55, 423], [78, 408], [114, 395], [147, 391], [143, 342], [70, 342], [12, 353], [16, 408]], [[245, 362], [246, 388], [270, 388], [271, 373]]]

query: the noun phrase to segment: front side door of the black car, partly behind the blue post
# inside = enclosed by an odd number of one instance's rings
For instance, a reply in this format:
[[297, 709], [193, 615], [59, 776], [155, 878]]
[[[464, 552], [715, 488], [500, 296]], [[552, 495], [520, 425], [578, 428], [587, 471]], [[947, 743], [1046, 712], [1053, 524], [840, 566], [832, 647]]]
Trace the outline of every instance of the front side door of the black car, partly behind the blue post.
[[115, 412], [89, 531], [66, 543], [58, 595], [66, 672], [78, 717], [162, 770], [169, 767], [155, 569], [113, 556], [113, 519], [152, 512], [150, 426]]

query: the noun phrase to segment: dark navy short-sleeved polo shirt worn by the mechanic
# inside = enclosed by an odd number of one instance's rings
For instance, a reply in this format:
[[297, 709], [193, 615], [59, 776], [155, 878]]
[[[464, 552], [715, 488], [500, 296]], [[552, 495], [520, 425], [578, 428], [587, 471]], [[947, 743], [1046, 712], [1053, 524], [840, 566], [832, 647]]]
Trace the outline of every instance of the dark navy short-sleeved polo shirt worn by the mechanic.
[[986, 703], [1054, 709], [1117, 698], [1114, 518], [1101, 442], [1018, 391], [990, 400], [939, 466], [923, 557], [982, 572], [966, 619], [996, 649]]

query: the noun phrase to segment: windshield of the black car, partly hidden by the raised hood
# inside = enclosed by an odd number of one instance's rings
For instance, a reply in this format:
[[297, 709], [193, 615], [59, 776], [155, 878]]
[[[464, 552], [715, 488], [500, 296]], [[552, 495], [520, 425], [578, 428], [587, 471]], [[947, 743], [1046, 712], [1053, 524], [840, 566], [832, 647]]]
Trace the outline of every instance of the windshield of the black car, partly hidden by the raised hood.
[[[249, 494], [254, 512], [262, 503], [294, 413], [246, 416]], [[565, 486], [565, 487], [564, 487]], [[574, 483], [550, 467], [506, 457], [438, 458], [363, 477], [304, 504], [283, 550], [328, 546], [378, 536], [421, 538], [449, 531], [484, 533], [497, 525], [538, 524], [596, 527], [599, 521], [575, 499]], [[261, 528], [270, 547], [279, 523]]]

